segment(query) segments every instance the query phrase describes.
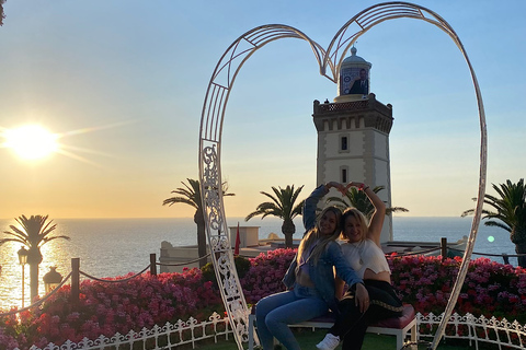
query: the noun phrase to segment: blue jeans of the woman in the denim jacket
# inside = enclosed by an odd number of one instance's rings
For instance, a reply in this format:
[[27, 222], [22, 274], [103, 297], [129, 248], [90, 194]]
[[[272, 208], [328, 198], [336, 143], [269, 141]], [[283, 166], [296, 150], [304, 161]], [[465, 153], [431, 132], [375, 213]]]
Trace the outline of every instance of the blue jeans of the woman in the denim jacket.
[[300, 350], [287, 325], [324, 315], [327, 303], [316, 289], [296, 284], [291, 291], [263, 298], [255, 307], [255, 324], [263, 350], [273, 350], [274, 337], [288, 350]]

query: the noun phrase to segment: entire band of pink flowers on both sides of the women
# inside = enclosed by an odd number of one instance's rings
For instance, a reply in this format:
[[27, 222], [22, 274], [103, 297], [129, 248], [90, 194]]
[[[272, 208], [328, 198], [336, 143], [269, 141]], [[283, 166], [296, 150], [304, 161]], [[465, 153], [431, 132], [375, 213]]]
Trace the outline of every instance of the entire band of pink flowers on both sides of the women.
[[[282, 278], [295, 254], [295, 249], [276, 249], [249, 259], [251, 267], [240, 280], [248, 303], [284, 291]], [[444, 312], [460, 258], [442, 261], [439, 257], [393, 255], [388, 260], [403, 302], [422, 314]], [[205, 320], [214, 311], [224, 312], [219, 291], [204, 281], [198, 269], [158, 277], [145, 273], [119, 283], [87, 280], [80, 293], [75, 310], [70, 287], [65, 285], [41, 310], [21, 313], [20, 323], [15, 316], [0, 317], [0, 350], [112, 337], [190, 316]], [[487, 258], [471, 261], [456, 311], [526, 323], [526, 270]]]

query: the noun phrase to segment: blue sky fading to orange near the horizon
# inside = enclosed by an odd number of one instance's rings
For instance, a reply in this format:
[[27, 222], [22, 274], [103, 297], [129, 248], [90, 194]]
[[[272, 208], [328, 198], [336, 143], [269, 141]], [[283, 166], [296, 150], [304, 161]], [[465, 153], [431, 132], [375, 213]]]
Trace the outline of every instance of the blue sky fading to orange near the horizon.
[[[162, 207], [198, 178], [203, 102], [221, 55], [243, 33], [287, 24], [327, 48], [375, 1], [8, 0], [0, 27], [0, 130], [38, 125], [58, 150], [26, 160], [0, 149], [0, 218], [191, 217]], [[482, 91], [491, 183], [526, 175], [526, 1], [423, 0], [460, 37]], [[409, 19], [362, 36], [370, 91], [392, 104], [392, 205], [404, 215], [472, 208], [480, 128], [466, 61], [437, 27]], [[302, 40], [271, 43], [242, 68], [227, 108], [222, 177], [244, 217], [271, 186], [316, 184], [312, 102], [336, 85]], [[34, 139], [34, 138], [33, 138]], [[37, 145], [41, 150], [44, 145]], [[358, 179], [359, 180], [359, 179]], [[382, 185], [382, 184], [376, 184]]]

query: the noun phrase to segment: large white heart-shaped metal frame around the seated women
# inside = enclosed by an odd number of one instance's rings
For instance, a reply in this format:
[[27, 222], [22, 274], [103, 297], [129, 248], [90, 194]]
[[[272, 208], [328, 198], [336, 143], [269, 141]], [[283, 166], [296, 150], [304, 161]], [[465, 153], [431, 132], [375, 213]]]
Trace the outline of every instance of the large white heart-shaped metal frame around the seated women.
[[233, 255], [230, 248], [231, 245], [222, 203], [220, 166], [222, 121], [236, 77], [244, 62], [266, 44], [283, 38], [298, 38], [306, 40], [310, 45], [320, 67], [320, 74], [336, 83], [345, 54], [356, 39], [381, 22], [402, 18], [416, 19], [431, 23], [444, 31], [455, 42], [468, 63], [479, 110], [481, 139], [477, 207], [464, 254], [464, 260], [444, 312], [444, 317], [433, 339], [432, 349], [436, 349], [439, 339], [444, 335], [447, 320], [453, 313], [468, 271], [482, 214], [487, 178], [485, 114], [474, 70], [453, 27], [443, 18], [428, 9], [409, 2], [397, 1], [379, 3], [357, 13], [336, 33], [327, 51], [318, 43], [295, 27], [282, 24], [258, 26], [241, 35], [228, 47], [211, 74], [203, 104], [199, 131], [202, 205], [214, 269], [230, 325], [235, 330], [236, 341], [240, 350], [243, 349], [242, 342], [248, 340], [248, 315], [250, 311], [247, 307], [236, 266], [233, 265]]

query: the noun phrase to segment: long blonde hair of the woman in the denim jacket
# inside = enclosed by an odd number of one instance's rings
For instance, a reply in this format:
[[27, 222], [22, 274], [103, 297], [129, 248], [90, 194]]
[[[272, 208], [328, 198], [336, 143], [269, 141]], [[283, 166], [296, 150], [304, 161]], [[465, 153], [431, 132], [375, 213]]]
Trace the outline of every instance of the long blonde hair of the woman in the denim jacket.
[[[322, 218], [325, 213], [332, 212], [336, 217], [336, 226], [334, 229], [334, 232], [331, 235], [321, 235], [320, 234], [320, 218]], [[342, 218], [342, 211], [336, 208], [336, 207], [327, 207], [323, 209], [323, 211], [319, 214], [319, 217], [316, 220], [316, 226], [311, 230], [309, 230], [304, 238], [301, 240], [301, 243], [299, 244], [298, 247], [298, 255], [297, 255], [297, 261], [299, 265], [299, 259], [301, 258], [301, 255], [305, 249], [308, 249], [315, 244], [318, 240], [319, 243], [316, 245], [316, 247], [312, 249], [312, 253], [310, 254], [309, 259], [313, 259], [315, 265], [318, 264], [318, 260], [320, 259], [321, 254], [325, 249], [325, 246], [329, 244], [331, 241], [335, 241], [340, 236], [340, 225], [341, 225], [341, 218]]]

